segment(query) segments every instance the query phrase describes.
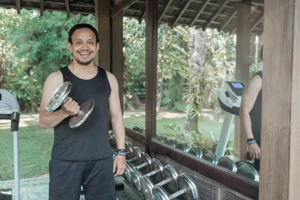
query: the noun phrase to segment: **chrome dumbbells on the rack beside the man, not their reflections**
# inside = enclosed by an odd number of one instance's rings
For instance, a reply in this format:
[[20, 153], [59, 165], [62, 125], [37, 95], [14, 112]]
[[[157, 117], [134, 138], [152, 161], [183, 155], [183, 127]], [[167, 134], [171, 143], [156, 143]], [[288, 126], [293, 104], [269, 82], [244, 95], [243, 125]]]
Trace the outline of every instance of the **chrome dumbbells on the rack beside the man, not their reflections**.
[[[138, 191], [142, 191], [145, 199], [173, 199], [180, 195], [183, 199], [198, 199], [196, 185], [188, 174], [178, 174], [170, 164], [163, 166], [158, 159], [150, 158], [139, 147], [132, 147], [130, 142], [126, 142], [125, 146], [128, 153], [126, 156], [127, 166], [123, 176], [128, 182], [133, 183]], [[146, 173], [143, 174], [140, 169]], [[150, 177], [155, 177], [159, 182], [154, 184]], [[162, 187], [163, 185], [166, 185], [174, 193], [168, 195]]]

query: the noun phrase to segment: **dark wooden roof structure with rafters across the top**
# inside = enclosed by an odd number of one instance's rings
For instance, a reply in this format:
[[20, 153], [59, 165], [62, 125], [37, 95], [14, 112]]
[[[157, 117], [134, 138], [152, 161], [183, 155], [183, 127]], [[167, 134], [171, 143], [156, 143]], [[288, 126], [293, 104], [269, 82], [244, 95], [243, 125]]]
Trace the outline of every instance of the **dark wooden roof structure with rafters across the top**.
[[[251, 4], [251, 33], [263, 32], [263, 0], [158, 0], [158, 23], [170, 27], [178, 24], [197, 28], [217, 28], [218, 31], [235, 33], [236, 13], [241, 3]], [[110, 16], [121, 7], [123, 16], [133, 17], [141, 22], [145, 18], [145, 0], [123, 0], [114, 5], [110, 0]], [[43, 11], [62, 11], [73, 14], [95, 14], [94, 0], [0, 0], [0, 6]]]

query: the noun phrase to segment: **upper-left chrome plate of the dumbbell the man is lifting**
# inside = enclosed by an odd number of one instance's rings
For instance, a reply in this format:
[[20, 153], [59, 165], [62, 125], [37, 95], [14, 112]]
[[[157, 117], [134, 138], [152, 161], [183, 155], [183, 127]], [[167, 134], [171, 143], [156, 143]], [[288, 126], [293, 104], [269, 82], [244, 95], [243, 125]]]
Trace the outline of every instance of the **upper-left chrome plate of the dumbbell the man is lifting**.
[[63, 82], [50, 96], [46, 103], [46, 111], [52, 112], [66, 101], [66, 97], [71, 90], [72, 84], [69, 81]]

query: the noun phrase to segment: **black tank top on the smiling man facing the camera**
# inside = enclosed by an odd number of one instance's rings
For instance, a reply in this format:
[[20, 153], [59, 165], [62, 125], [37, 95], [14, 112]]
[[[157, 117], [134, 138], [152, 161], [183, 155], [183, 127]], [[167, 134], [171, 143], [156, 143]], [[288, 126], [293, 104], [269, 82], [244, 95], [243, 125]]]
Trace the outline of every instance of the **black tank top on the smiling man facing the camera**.
[[[63, 82], [70, 81], [72, 88], [68, 94], [78, 105], [91, 98], [94, 107], [89, 117], [78, 127], [70, 128], [70, 117], [54, 127], [54, 143], [51, 156], [66, 160], [93, 160], [112, 156], [108, 139], [108, 97], [110, 84], [106, 71], [97, 67], [97, 75], [85, 80], [75, 76], [64, 66], [59, 69]], [[58, 108], [59, 109], [59, 108]]]

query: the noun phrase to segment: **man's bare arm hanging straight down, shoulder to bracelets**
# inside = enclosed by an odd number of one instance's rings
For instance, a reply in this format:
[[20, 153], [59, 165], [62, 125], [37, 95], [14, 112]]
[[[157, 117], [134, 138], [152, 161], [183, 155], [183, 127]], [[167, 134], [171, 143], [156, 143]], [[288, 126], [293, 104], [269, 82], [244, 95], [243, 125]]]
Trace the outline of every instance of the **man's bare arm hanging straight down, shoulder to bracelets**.
[[111, 118], [112, 130], [115, 135], [115, 141], [117, 148], [125, 148], [125, 128], [122, 116], [122, 110], [120, 106], [118, 84], [114, 75], [110, 72], [106, 72], [109, 80], [111, 92], [108, 99], [109, 113]]

